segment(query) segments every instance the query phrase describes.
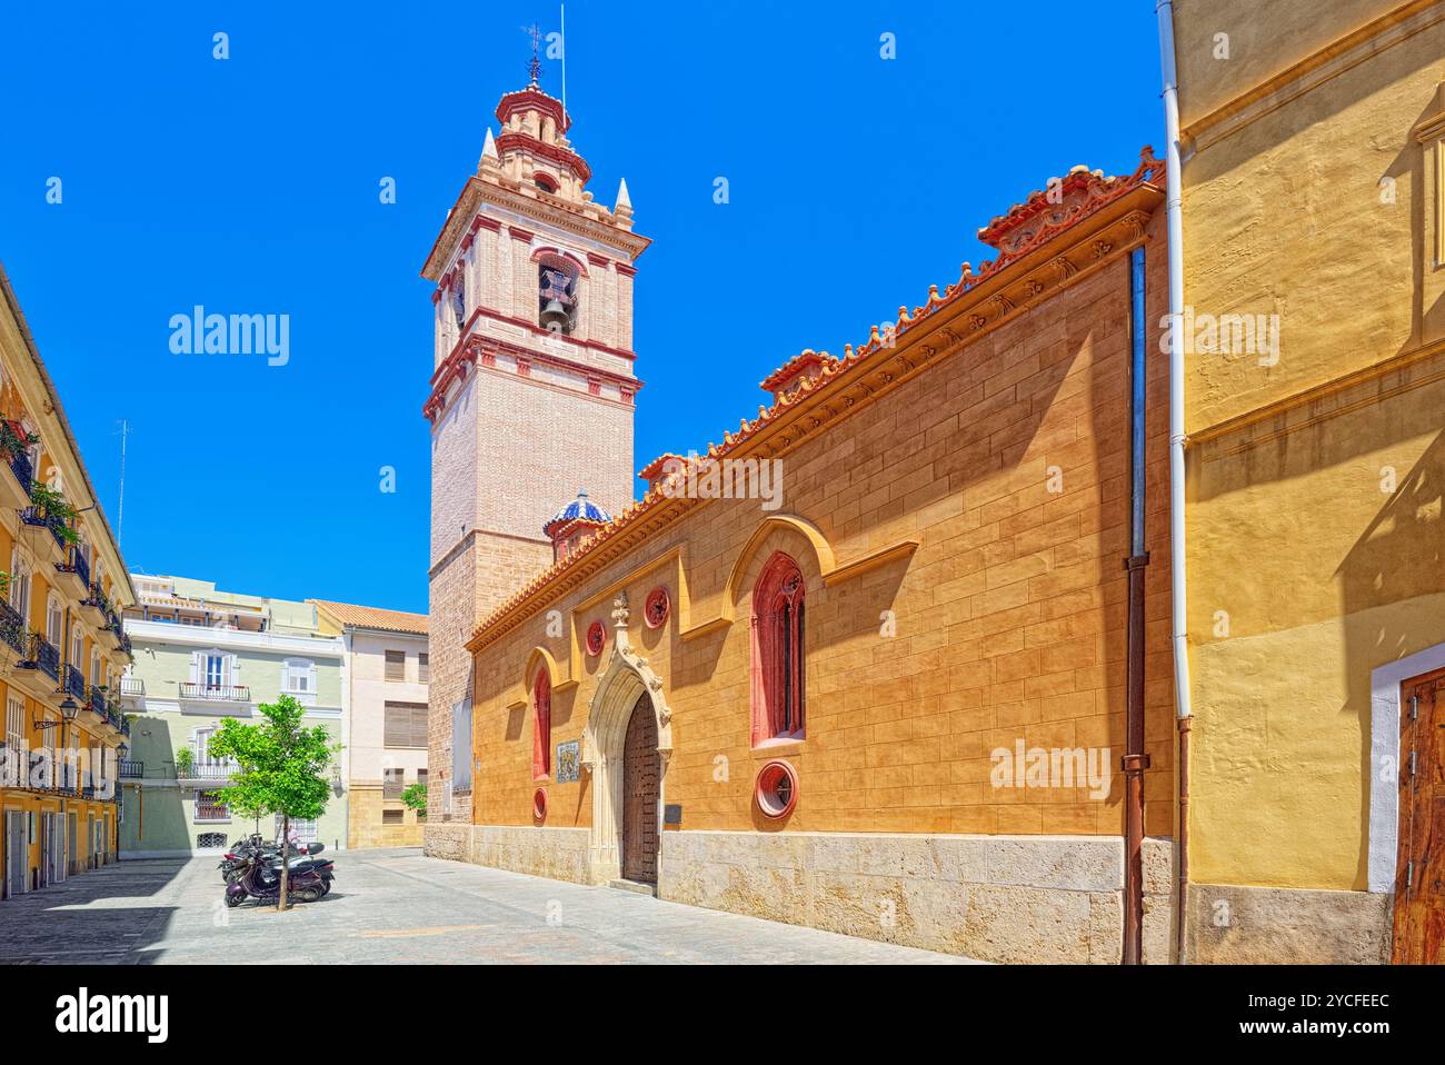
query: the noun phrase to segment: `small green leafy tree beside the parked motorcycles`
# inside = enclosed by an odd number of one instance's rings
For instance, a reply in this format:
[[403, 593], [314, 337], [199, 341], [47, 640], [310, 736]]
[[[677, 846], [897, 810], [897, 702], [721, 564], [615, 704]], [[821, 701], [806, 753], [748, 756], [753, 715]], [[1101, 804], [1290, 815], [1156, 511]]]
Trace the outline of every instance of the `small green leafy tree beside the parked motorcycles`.
[[259, 708], [260, 724], [243, 724], [236, 718], [221, 721], [208, 743], [217, 757], [236, 760], [237, 772], [227, 788], [215, 795], [243, 816], [280, 814], [280, 897], [277, 909], [286, 907], [290, 884], [290, 819], [318, 818], [327, 809], [331, 782], [327, 770], [341, 744], [331, 743], [324, 725], [303, 727], [301, 702], [282, 695], [276, 702]]

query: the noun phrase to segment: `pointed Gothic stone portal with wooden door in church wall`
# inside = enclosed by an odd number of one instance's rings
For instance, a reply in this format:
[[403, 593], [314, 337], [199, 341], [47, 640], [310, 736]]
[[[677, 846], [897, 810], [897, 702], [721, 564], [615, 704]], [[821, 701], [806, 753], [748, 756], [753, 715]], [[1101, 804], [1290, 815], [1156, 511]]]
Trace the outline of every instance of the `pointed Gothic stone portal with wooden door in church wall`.
[[[626, 592], [613, 601], [613, 653], [582, 733], [582, 764], [592, 775], [592, 881], [626, 879], [655, 884], [672, 756], [672, 711], [662, 678], [627, 637]], [[639, 714], [644, 717], [637, 718]], [[649, 746], [655, 759], [647, 757]], [[634, 785], [630, 801], [629, 783]]]

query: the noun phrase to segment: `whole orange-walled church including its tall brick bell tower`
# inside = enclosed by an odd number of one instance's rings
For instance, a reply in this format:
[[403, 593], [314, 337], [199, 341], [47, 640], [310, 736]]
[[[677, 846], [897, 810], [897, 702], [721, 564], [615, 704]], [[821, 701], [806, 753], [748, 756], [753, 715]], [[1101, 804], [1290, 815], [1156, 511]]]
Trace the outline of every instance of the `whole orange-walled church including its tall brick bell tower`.
[[496, 116], [423, 269], [426, 851], [990, 961], [1172, 961], [1163, 165], [1049, 181], [980, 231], [991, 262], [639, 467], [649, 240], [535, 78]]

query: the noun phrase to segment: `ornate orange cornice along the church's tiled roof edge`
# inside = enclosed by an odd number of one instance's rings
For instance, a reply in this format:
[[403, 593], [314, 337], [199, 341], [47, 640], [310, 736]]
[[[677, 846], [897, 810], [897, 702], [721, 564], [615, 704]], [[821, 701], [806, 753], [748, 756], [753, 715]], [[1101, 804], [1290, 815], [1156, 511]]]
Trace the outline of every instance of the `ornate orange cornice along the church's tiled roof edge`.
[[[844, 358], [825, 364], [818, 377], [803, 380], [770, 408], [760, 406], [756, 419], [741, 419], [736, 434], [722, 434], [721, 445], [708, 444], [701, 461], [776, 458], [793, 451], [815, 432], [912, 380], [929, 363], [965, 350], [981, 335], [1114, 262], [1144, 240], [1144, 224], [1163, 201], [1163, 163], [1146, 146], [1131, 175], [1100, 179], [1107, 186], [1104, 195], [1090, 195], [1085, 207], [1056, 221], [1042, 220], [1027, 238], [1014, 241], [1013, 250], [984, 263], [978, 273], [964, 263], [959, 279], [944, 295], [933, 285], [928, 301], [912, 314], [900, 306], [887, 337], [873, 327], [866, 344], [858, 348], [848, 344]], [[1090, 188], [1097, 186], [1090, 182]], [[662, 486], [650, 488], [642, 500], [614, 514], [611, 525], [585, 546], [533, 575], [497, 605], [477, 626], [467, 649], [477, 653], [496, 643], [536, 610], [709, 501], [673, 496]]]

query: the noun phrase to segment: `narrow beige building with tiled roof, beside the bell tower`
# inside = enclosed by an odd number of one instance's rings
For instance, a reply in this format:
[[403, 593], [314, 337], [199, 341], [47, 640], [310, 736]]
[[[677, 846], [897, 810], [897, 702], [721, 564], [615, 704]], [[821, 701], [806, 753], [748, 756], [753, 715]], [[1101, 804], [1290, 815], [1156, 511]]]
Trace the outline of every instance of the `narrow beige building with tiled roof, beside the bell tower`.
[[426, 614], [314, 603], [322, 631], [345, 643], [347, 845], [420, 847], [426, 815], [402, 802], [402, 793], [428, 783]]

